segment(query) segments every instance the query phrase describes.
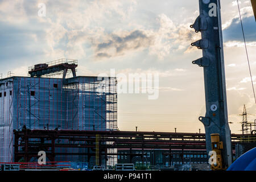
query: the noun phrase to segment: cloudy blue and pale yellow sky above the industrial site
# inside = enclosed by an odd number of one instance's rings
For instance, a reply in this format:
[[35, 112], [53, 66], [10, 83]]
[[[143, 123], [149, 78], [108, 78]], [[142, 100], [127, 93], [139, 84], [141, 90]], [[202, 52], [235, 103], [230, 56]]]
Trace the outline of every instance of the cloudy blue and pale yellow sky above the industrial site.
[[[255, 84], [256, 23], [250, 1], [240, 7]], [[230, 129], [241, 133], [243, 105], [250, 114], [256, 106], [237, 1], [221, 1], [221, 14]], [[31, 65], [68, 58], [80, 76], [158, 75], [155, 100], [118, 93], [119, 130], [203, 133], [203, 68], [192, 64], [202, 53], [190, 46], [200, 33], [189, 28], [198, 15], [197, 0], [0, 0], [0, 73], [27, 76]]]

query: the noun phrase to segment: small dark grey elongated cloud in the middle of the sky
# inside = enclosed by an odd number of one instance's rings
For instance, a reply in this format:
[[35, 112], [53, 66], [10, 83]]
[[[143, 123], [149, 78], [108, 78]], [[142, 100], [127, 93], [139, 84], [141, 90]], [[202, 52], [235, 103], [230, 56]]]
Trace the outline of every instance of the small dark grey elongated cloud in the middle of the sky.
[[[151, 36], [147, 36], [145, 32], [135, 30], [130, 32], [128, 35], [118, 36], [118, 35], [109, 35], [109, 40], [95, 45], [96, 51], [98, 52], [96, 57], [112, 57], [121, 55], [125, 51], [138, 49], [138, 48], [147, 48], [153, 42]], [[109, 50], [114, 49], [114, 53], [109, 54]], [[113, 51], [112, 51], [113, 52]]]

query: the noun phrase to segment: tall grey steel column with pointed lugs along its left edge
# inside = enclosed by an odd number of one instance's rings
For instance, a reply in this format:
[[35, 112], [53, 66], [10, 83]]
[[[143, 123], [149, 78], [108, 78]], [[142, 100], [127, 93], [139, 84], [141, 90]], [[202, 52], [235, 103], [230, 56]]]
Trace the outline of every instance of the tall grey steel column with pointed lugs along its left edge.
[[191, 44], [203, 51], [203, 57], [192, 61], [204, 68], [206, 114], [199, 120], [205, 127], [208, 154], [214, 150], [210, 135], [220, 135], [220, 142], [223, 142], [221, 163], [223, 168], [228, 168], [232, 164], [232, 145], [226, 101], [220, 0], [199, 0], [199, 8], [200, 15], [191, 25], [196, 32], [201, 32], [202, 38]]

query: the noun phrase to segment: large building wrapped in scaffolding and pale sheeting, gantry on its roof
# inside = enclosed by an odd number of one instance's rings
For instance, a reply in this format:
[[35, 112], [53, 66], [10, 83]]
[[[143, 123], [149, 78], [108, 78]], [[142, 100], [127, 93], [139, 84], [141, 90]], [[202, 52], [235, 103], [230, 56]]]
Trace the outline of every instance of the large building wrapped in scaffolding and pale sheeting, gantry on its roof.
[[[30, 67], [30, 77], [13, 76], [0, 80], [0, 162], [14, 162], [13, 131], [24, 127], [117, 130], [116, 78], [76, 76], [76, 67], [77, 60], [60, 59]], [[66, 78], [69, 73], [73, 77]], [[61, 78], [56, 78], [59, 75]], [[58, 142], [68, 143], [69, 140], [59, 139]], [[60, 150], [64, 154], [74, 150], [85, 152], [85, 148]], [[114, 152], [112, 149], [110, 153]], [[79, 155], [56, 156], [55, 160], [85, 161]], [[116, 160], [116, 156], [110, 157], [108, 163], [111, 165]]]

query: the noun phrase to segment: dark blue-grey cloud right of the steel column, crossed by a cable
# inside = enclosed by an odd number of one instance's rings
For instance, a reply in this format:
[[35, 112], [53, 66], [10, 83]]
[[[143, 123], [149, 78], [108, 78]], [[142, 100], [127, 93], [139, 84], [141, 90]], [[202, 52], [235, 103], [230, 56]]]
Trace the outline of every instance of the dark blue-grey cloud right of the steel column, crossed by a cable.
[[[248, 42], [256, 41], [256, 23], [254, 16], [242, 19], [245, 38]], [[228, 28], [223, 31], [224, 42], [243, 41], [241, 22], [239, 18], [234, 18]]]

